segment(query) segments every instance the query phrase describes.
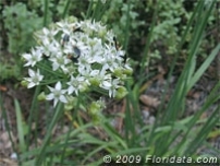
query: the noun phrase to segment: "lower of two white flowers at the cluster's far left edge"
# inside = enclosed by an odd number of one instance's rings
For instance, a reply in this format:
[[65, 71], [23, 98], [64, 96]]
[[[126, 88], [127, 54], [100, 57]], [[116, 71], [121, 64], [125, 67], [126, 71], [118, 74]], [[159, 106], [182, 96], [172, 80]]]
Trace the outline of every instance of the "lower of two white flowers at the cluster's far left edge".
[[36, 85], [39, 85], [39, 82], [42, 80], [44, 75], [40, 75], [39, 69], [37, 69], [37, 72], [35, 72], [32, 69], [28, 69], [28, 74], [30, 78], [25, 78], [26, 81], [28, 81], [27, 88], [32, 88]]

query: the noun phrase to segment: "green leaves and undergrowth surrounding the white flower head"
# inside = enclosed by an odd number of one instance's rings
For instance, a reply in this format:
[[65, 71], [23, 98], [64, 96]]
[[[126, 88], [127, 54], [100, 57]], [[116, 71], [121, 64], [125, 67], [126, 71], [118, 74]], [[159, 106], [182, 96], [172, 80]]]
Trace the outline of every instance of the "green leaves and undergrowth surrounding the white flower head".
[[[5, 0], [0, 10], [0, 129], [9, 134], [15, 163], [100, 165], [105, 155], [112, 163], [119, 155], [139, 155], [146, 165], [147, 155], [219, 157], [212, 146], [220, 138], [216, 0]], [[21, 86], [27, 73], [21, 54], [35, 46], [33, 33], [71, 15], [112, 28], [134, 69], [127, 96], [106, 98], [98, 121], [81, 102], [71, 111], [62, 105], [51, 110], [50, 103], [38, 102], [38, 87]], [[198, 86], [203, 102], [194, 99], [191, 111], [188, 97]], [[152, 88], [159, 97], [149, 97]], [[204, 146], [208, 152], [201, 153]]]

